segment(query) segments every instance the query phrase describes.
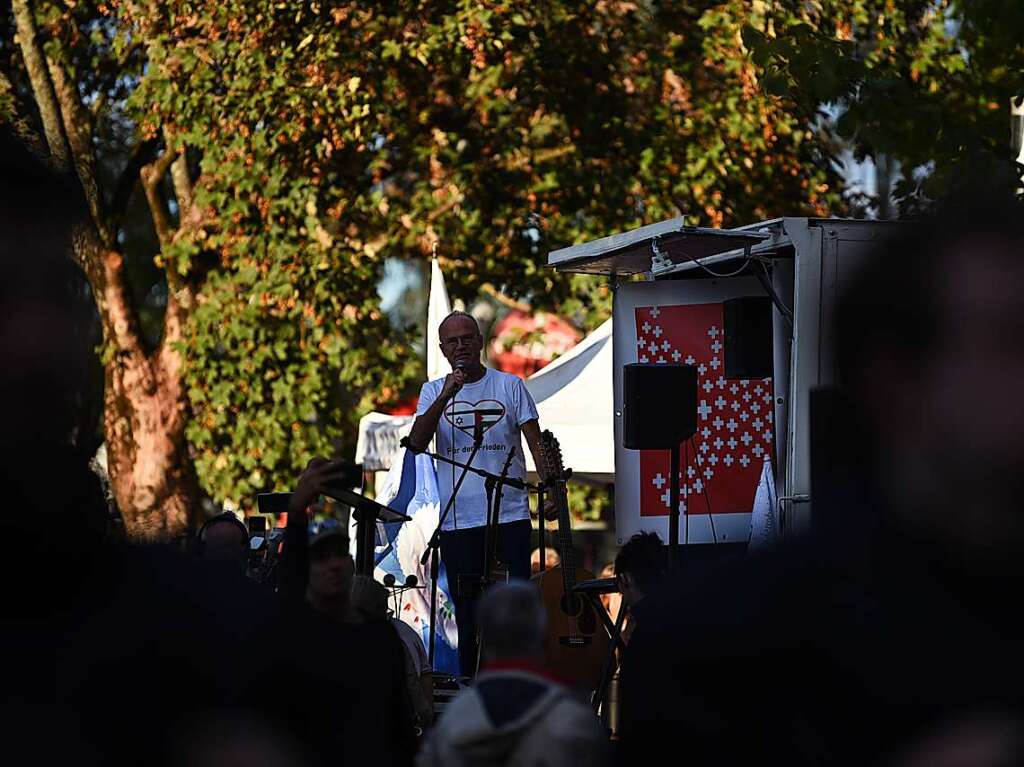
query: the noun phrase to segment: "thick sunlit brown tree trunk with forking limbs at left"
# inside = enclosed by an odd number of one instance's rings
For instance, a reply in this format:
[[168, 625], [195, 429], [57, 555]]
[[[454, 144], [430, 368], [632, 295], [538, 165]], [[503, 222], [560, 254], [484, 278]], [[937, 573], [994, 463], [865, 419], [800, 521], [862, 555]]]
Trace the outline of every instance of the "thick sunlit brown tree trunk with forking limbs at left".
[[[123, 258], [117, 250], [114, 217], [99, 193], [92, 151], [92, 122], [75, 84], [39, 42], [29, 0], [14, 0], [18, 43], [43, 123], [50, 161], [74, 170], [82, 183], [91, 220], [75, 232], [74, 253], [85, 271], [103, 328], [103, 431], [114, 498], [128, 535], [167, 539], [191, 523], [199, 485], [185, 440], [188, 402], [180, 355], [181, 338], [191, 304], [187, 290], [171, 285], [164, 333], [156, 351], [142, 347], [138, 316], [126, 289]], [[147, 197], [175, 159], [170, 152], [143, 174]], [[187, 189], [187, 166], [176, 169], [176, 186]], [[168, 237], [163, 203], [150, 200], [155, 224]], [[169, 274], [169, 283], [172, 275]]]

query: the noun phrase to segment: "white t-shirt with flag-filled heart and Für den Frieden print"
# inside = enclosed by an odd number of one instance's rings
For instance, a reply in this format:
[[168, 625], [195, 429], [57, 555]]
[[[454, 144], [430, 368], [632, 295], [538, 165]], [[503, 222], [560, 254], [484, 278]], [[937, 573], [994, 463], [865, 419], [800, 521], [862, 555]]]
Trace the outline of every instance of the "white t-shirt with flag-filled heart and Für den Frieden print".
[[[443, 378], [423, 384], [416, 415], [422, 416], [427, 412], [443, 386]], [[487, 368], [479, 381], [465, 384], [445, 406], [434, 435], [436, 451], [441, 456], [465, 463], [473, 452], [474, 424], [479, 423], [483, 441], [472, 465], [500, 474], [508, 451], [515, 448], [508, 476], [522, 479], [526, 476], [526, 461], [523, 459], [519, 427], [536, 418], [537, 406], [522, 379]], [[460, 473], [462, 469], [458, 466], [437, 462], [441, 511], [447, 505]], [[444, 520], [443, 529], [465, 529], [486, 524], [487, 494], [483, 482], [479, 474], [472, 471], [466, 474], [455, 505]], [[513, 522], [518, 519], [529, 519], [529, 498], [523, 489], [505, 486], [499, 521]]]

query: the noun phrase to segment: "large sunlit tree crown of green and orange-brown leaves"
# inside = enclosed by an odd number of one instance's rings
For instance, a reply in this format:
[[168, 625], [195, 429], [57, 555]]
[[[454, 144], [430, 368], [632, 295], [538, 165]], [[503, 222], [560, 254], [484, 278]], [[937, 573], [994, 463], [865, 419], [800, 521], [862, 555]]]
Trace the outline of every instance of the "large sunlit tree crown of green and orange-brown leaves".
[[610, 290], [547, 269], [552, 249], [844, 209], [827, 134], [744, 43], [765, 3], [39, 5], [111, 167], [186, 153], [193, 200], [161, 186], [173, 236], [131, 276], [140, 304], [194, 296], [176, 349], [217, 501], [349, 454], [357, 417], [422, 375], [380, 313], [385, 259], [437, 244], [454, 297], [489, 286], [590, 329]]

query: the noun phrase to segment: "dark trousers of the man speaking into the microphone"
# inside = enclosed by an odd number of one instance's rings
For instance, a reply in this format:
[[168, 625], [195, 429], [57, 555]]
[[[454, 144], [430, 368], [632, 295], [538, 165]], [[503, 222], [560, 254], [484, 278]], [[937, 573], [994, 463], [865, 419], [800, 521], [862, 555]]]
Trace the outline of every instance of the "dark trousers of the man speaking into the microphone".
[[[476, 672], [476, 608], [479, 591], [467, 594], [461, 588], [460, 576], [481, 576], [484, 567], [484, 535], [486, 527], [441, 530], [441, 561], [447, 574], [449, 590], [455, 602], [455, 621], [459, 626], [459, 666], [463, 676]], [[509, 576], [529, 579], [528, 519], [498, 525], [495, 545], [498, 559], [508, 565]]]

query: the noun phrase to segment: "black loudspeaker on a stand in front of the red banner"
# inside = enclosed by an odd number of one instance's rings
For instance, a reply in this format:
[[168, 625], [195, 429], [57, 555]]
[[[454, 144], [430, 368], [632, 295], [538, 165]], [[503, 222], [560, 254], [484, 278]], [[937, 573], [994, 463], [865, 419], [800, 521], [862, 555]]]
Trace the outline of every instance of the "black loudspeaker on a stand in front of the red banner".
[[623, 443], [669, 450], [697, 430], [697, 369], [690, 365], [623, 368]]

